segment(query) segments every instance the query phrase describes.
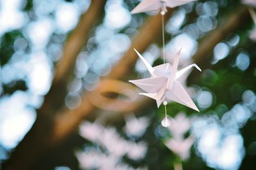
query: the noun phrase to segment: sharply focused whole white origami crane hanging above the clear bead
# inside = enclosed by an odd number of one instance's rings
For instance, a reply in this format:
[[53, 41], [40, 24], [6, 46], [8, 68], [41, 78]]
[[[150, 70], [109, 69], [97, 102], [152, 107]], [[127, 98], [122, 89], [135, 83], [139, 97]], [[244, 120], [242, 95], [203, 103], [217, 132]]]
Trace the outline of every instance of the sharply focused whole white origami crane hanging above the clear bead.
[[201, 69], [196, 64], [189, 65], [178, 72], [177, 67], [179, 63], [179, 51], [175, 56], [173, 65], [170, 65], [170, 63], [165, 63], [163, 65], [152, 67], [136, 49], [134, 50], [143, 61], [151, 75], [151, 77], [148, 79], [129, 81], [147, 92], [140, 93], [140, 95], [145, 95], [146, 97], [150, 97], [156, 100], [157, 107], [159, 107], [165, 100], [173, 100], [174, 102], [186, 105], [187, 107], [190, 107], [191, 109], [199, 112], [186, 90], [178, 81], [179, 77], [188, 72], [188, 70], [193, 66], [201, 71]]

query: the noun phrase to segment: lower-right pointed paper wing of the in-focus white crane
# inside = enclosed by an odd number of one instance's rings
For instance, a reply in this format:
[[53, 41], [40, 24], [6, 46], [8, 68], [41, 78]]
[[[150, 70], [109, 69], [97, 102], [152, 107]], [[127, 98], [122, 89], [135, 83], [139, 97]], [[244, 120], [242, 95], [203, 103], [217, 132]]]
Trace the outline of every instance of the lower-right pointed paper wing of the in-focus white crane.
[[166, 91], [166, 98], [199, 112], [193, 100], [178, 81], [174, 81], [172, 91]]

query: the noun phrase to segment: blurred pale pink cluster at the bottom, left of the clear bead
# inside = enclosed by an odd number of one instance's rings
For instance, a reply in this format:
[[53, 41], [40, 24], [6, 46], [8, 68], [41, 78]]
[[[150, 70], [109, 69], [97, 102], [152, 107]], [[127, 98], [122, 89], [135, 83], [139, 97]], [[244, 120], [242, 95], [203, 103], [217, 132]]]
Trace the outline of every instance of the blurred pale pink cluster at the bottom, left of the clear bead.
[[[142, 125], [148, 126], [147, 118], [131, 118], [131, 125], [140, 124], [140, 121], [143, 123]], [[129, 123], [128, 123], [129, 124]], [[140, 127], [140, 133], [144, 133], [146, 127]], [[127, 155], [129, 158], [133, 160], [139, 160], [145, 156], [147, 153], [147, 144], [140, 142], [135, 143], [132, 141], [127, 141], [123, 137], [121, 137], [115, 128], [113, 127], [102, 127], [102, 125], [98, 123], [90, 123], [85, 121], [81, 124], [79, 134], [84, 138], [92, 141], [93, 143], [99, 144], [104, 150], [101, 151], [97, 148], [88, 148], [85, 151], [79, 151], [76, 153], [77, 158], [80, 162], [80, 166], [82, 169], [93, 169], [97, 168], [100, 170], [122, 170], [122, 169], [133, 169], [125, 164], [120, 164], [120, 160], [124, 155]], [[138, 134], [135, 132], [134, 134]], [[141, 168], [141, 169], [144, 169]]]

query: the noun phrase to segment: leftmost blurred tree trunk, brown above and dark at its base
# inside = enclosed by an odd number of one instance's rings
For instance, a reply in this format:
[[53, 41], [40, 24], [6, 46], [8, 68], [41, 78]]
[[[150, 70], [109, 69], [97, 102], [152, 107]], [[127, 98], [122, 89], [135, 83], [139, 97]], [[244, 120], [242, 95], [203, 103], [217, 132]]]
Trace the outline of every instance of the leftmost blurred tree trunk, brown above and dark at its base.
[[68, 77], [72, 74], [77, 54], [87, 42], [93, 24], [101, 18], [105, 3], [105, 0], [92, 1], [90, 8], [81, 16], [79, 24], [65, 44], [51, 89], [37, 111], [33, 127], [3, 164], [3, 169], [34, 169], [36, 162], [49, 150], [54, 113], [65, 98]]

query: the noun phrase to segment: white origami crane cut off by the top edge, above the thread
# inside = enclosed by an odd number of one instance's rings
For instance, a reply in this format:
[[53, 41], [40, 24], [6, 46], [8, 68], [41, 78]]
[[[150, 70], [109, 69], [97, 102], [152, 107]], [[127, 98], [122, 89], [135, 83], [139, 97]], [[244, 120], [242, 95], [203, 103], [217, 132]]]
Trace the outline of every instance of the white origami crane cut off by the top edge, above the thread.
[[132, 14], [141, 12], [151, 12], [163, 10], [166, 12], [166, 7], [174, 8], [182, 4], [189, 3], [196, 0], [143, 0], [138, 6], [132, 10]]

